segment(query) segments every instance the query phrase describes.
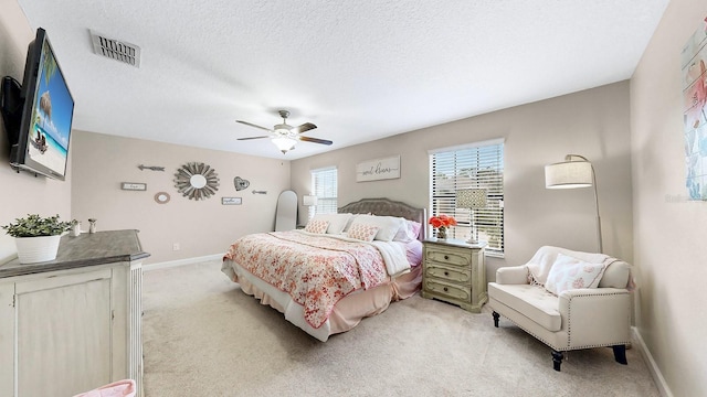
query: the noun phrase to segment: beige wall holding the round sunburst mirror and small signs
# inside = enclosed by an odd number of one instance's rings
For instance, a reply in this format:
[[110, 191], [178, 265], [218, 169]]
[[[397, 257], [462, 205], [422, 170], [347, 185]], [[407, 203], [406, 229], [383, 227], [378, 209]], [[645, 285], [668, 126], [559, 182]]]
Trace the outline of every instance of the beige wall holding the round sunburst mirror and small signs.
[[[76, 130], [72, 150], [73, 216], [84, 229], [93, 217], [101, 230], [140, 230], [140, 242], [151, 254], [147, 264], [222, 254], [245, 234], [274, 229], [277, 196], [289, 189], [288, 161]], [[187, 162], [215, 170], [215, 196], [194, 201], [177, 191], [175, 173]], [[165, 171], [140, 171], [139, 164]], [[250, 187], [236, 192], [235, 176], [249, 180]], [[147, 191], [124, 191], [120, 182], [147, 183]], [[157, 192], [169, 193], [169, 203], [156, 203]], [[222, 196], [242, 197], [243, 204], [222, 205]], [[178, 251], [172, 250], [176, 243]]]

